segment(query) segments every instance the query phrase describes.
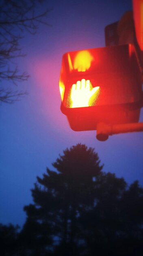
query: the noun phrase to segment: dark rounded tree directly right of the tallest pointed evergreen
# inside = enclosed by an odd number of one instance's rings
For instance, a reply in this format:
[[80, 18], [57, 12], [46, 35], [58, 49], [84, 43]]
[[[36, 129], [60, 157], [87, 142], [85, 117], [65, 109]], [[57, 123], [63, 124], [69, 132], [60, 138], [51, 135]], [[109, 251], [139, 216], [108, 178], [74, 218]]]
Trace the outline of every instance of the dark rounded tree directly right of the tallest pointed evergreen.
[[115, 174], [102, 173], [97, 177], [94, 205], [89, 211], [84, 211], [80, 218], [87, 255], [94, 255], [97, 250], [98, 255], [106, 255], [108, 245], [111, 247], [115, 242], [121, 224], [120, 200], [125, 189], [126, 182], [123, 178], [115, 177]]

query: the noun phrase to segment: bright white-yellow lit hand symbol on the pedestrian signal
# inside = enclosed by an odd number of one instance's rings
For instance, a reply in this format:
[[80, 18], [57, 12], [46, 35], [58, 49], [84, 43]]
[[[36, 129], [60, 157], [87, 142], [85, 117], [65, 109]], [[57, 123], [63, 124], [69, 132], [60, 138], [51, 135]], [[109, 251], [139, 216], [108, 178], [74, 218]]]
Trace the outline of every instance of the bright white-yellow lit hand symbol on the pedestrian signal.
[[71, 108], [82, 108], [93, 106], [99, 94], [100, 86], [92, 87], [90, 80], [82, 79], [72, 85], [70, 97]]

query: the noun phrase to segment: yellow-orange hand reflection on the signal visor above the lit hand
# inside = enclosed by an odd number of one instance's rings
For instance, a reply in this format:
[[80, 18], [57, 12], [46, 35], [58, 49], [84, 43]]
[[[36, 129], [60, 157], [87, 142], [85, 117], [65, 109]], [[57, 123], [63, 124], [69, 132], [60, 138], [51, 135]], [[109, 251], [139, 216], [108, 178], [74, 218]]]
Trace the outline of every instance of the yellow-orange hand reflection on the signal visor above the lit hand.
[[85, 72], [91, 67], [91, 61], [93, 61], [93, 56], [89, 51], [80, 51], [74, 60], [74, 69], [78, 72]]

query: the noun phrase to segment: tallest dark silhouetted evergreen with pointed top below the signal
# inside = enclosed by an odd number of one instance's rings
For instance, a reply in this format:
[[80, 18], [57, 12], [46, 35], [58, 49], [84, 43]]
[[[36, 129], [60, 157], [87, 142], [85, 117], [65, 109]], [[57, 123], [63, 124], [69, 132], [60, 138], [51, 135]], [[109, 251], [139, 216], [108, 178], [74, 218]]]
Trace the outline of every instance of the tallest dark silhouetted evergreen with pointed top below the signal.
[[[66, 149], [53, 166], [56, 172], [47, 168], [42, 179], [37, 177], [32, 189], [35, 204], [24, 208], [27, 221], [33, 219], [48, 226], [47, 234], [58, 255], [78, 255], [82, 228], [78, 219], [85, 208], [93, 207], [95, 180], [102, 166], [94, 149], [81, 144]], [[39, 229], [37, 237], [42, 232]]]

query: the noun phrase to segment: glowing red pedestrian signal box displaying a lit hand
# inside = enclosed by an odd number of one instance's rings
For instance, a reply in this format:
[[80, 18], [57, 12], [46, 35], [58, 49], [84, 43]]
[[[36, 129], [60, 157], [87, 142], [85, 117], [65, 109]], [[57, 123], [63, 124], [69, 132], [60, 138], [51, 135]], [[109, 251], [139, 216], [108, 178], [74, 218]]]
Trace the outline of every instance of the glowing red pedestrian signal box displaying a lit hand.
[[73, 130], [139, 121], [142, 85], [134, 45], [64, 54], [59, 88], [61, 111]]

